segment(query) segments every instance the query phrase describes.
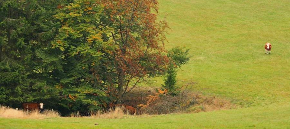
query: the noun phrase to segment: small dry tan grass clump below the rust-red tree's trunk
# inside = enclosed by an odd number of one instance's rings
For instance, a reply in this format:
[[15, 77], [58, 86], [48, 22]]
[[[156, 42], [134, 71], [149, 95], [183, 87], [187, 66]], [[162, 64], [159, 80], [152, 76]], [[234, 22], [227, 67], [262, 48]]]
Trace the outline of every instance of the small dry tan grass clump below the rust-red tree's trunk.
[[92, 112], [92, 118], [109, 118], [109, 119], [120, 119], [124, 118], [126, 115], [124, 113], [124, 107], [116, 107], [115, 109], [110, 109], [107, 112]]

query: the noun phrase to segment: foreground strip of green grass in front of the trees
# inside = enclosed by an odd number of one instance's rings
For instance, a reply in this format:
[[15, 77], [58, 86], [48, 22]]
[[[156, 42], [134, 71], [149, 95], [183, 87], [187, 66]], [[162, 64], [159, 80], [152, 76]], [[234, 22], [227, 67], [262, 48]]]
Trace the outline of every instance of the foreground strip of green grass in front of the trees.
[[[234, 110], [171, 114], [145, 118], [3, 119], [0, 129], [186, 129], [186, 128], [276, 128], [290, 129], [290, 105], [250, 107]], [[99, 125], [94, 125], [98, 123]]]

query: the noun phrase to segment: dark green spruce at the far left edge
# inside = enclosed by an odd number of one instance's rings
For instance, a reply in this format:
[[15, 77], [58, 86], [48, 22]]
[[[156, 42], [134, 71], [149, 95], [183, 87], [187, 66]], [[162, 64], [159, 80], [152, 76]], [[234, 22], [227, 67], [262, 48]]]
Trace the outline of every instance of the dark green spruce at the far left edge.
[[19, 107], [55, 96], [38, 54], [53, 38], [56, 2], [0, 1], [0, 103]]

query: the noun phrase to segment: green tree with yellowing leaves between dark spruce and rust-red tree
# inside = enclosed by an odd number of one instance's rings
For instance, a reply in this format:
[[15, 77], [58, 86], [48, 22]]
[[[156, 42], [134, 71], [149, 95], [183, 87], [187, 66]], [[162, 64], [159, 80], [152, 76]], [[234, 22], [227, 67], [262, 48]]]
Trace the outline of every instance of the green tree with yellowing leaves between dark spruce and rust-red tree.
[[[58, 6], [60, 22], [50, 52], [63, 62], [51, 73], [60, 90], [60, 105], [70, 112], [100, 109], [106, 103], [102, 70], [114, 45], [102, 41], [101, 6], [96, 0], [73, 0]], [[53, 74], [55, 73], [55, 74]]]

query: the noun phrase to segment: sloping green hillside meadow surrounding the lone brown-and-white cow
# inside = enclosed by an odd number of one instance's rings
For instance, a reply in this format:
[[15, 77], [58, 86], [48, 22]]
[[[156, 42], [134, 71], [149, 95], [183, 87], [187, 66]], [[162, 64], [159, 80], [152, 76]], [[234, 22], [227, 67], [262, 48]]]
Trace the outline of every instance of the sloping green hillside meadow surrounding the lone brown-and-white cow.
[[[290, 99], [289, 0], [161, 0], [169, 47], [191, 49], [179, 84], [242, 106]], [[264, 55], [265, 42], [272, 54]]]

